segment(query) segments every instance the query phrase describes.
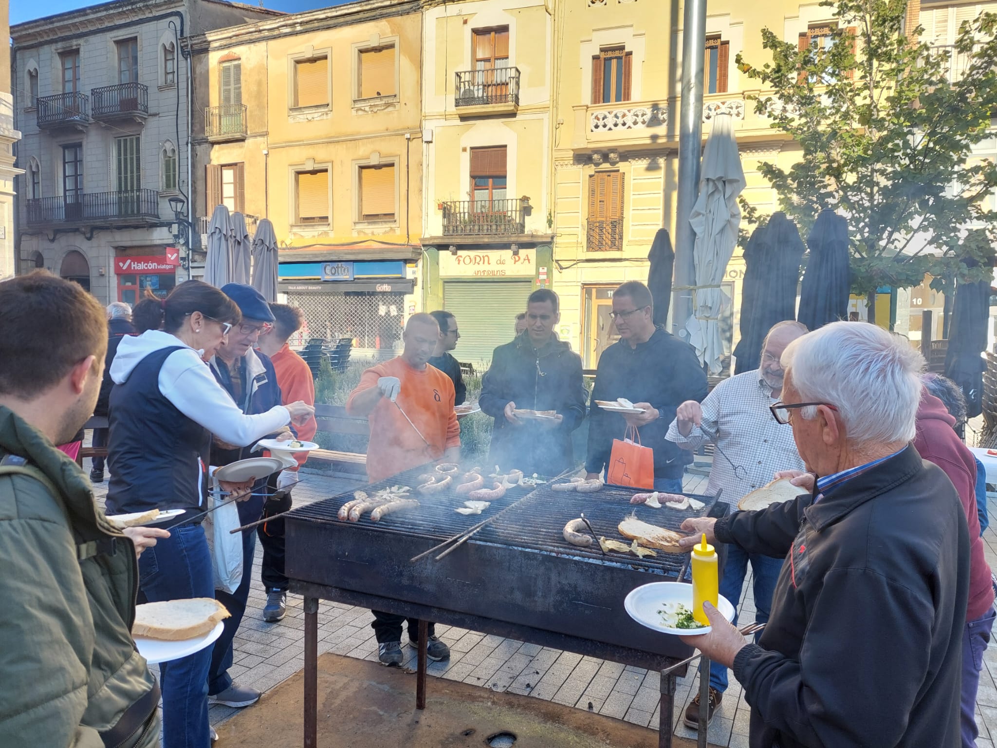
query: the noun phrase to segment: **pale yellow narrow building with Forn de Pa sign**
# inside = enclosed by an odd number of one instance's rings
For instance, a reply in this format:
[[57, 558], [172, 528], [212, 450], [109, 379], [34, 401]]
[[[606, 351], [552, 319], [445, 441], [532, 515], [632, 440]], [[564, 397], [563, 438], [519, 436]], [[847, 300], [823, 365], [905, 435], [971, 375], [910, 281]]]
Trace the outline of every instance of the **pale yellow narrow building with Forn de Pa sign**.
[[421, 282], [427, 309], [457, 317], [476, 367], [512, 338], [550, 283], [553, 6], [427, 3]]

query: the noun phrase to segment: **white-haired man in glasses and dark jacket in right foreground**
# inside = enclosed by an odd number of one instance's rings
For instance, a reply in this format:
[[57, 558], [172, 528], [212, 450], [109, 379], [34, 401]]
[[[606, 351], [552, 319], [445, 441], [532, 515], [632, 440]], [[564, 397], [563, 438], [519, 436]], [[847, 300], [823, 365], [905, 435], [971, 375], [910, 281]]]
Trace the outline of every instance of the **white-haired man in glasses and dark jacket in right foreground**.
[[[865, 322], [783, 354], [783, 402], [811, 473], [805, 494], [682, 528], [786, 556], [758, 644], [710, 605], [683, 640], [728, 667], [751, 704], [751, 748], [955, 748], [969, 534], [959, 497], [910, 440], [923, 359]], [[874, 397], [871, 396], [874, 394]]]

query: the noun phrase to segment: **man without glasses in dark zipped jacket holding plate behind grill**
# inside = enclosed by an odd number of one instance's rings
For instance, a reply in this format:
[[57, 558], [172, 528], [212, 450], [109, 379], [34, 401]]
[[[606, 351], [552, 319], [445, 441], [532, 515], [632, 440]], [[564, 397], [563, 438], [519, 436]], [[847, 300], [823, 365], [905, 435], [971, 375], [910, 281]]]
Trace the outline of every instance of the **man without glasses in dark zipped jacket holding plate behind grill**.
[[[502, 470], [555, 476], [574, 465], [571, 432], [585, 418], [581, 358], [558, 340], [557, 294], [540, 288], [526, 300], [526, 330], [499, 345], [482, 380], [482, 411], [495, 419], [490, 460]], [[517, 408], [556, 411], [525, 418]]]

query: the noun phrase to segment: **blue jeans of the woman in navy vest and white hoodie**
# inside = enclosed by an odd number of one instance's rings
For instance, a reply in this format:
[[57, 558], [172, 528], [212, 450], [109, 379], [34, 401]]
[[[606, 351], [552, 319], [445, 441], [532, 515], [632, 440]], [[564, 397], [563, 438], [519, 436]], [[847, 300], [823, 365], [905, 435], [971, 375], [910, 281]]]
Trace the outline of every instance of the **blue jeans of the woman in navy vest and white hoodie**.
[[[214, 594], [214, 571], [200, 525], [169, 531], [139, 557], [139, 578], [146, 599], [157, 602]], [[207, 667], [210, 648], [160, 663], [163, 684], [164, 748], [205, 748], [210, 745], [207, 723]]]

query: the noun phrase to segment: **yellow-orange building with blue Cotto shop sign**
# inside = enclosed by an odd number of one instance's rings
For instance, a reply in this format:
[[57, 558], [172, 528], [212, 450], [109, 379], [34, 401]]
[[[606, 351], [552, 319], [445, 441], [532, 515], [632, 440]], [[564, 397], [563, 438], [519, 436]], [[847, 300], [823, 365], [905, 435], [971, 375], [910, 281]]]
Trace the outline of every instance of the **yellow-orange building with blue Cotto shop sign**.
[[[267, 217], [309, 337], [393, 355], [423, 232], [418, 2], [351, 3], [195, 39], [194, 204]], [[199, 178], [199, 179], [198, 179]]]

